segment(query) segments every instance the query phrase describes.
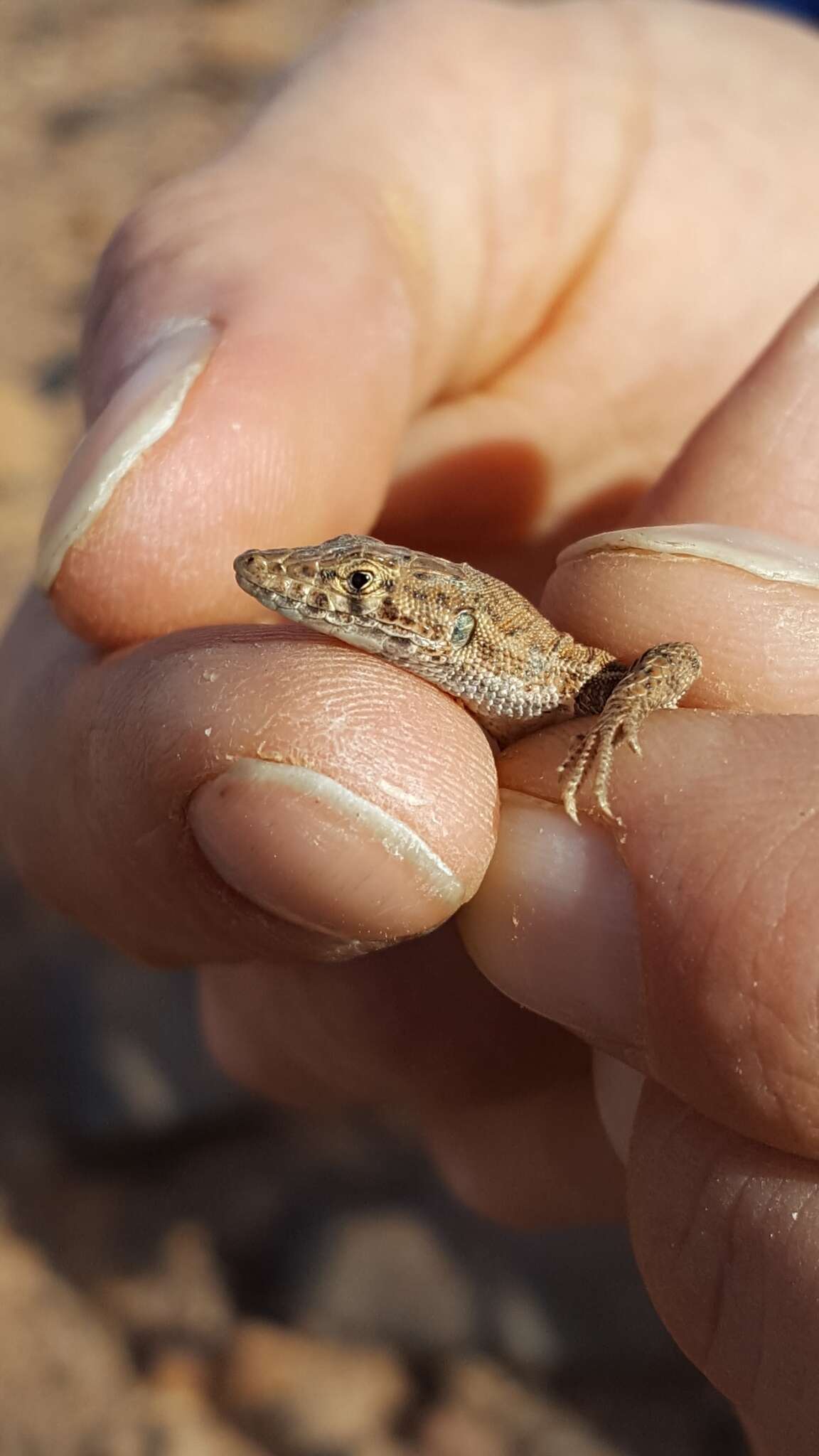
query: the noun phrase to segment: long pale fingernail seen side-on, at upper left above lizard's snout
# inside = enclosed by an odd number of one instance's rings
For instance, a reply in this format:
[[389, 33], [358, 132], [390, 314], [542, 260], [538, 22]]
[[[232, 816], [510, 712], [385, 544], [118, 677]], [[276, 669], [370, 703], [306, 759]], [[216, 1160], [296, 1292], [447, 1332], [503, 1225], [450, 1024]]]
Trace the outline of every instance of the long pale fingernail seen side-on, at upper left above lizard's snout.
[[217, 341], [219, 329], [207, 319], [163, 333], [83, 435], [42, 524], [35, 571], [42, 591], [51, 590], [66, 552], [82, 540], [136, 462], [176, 422]]

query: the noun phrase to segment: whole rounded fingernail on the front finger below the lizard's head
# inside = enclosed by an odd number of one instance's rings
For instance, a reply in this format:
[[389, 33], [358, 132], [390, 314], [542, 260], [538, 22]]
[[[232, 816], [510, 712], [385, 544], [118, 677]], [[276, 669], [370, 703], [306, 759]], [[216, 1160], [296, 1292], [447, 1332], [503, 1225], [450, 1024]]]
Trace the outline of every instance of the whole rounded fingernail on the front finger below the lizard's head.
[[446, 920], [463, 885], [421, 836], [315, 769], [240, 759], [191, 799], [216, 872], [293, 925], [395, 941]]

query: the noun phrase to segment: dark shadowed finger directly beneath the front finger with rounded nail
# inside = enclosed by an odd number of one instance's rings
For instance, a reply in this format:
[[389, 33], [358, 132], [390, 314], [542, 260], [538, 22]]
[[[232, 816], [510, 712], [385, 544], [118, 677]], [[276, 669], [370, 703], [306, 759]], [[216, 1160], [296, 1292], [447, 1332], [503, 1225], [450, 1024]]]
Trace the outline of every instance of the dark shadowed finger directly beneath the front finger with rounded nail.
[[417, 949], [338, 965], [207, 965], [211, 1048], [280, 1102], [377, 1101], [424, 1115], [580, 1077], [587, 1050], [475, 976], [452, 927]]

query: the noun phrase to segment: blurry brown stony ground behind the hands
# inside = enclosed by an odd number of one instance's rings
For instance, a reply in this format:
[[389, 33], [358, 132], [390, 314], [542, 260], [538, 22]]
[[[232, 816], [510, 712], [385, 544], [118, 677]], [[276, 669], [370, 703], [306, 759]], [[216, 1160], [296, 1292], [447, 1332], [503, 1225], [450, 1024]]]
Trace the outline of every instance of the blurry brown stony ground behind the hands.
[[[1, 619], [79, 431], [96, 256], [350, 7], [0, 4]], [[622, 1229], [493, 1227], [404, 1128], [256, 1105], [208, 1063], [188, 976], [1, 865], [0, 974], [0, 1456], [745, 1450]]]

